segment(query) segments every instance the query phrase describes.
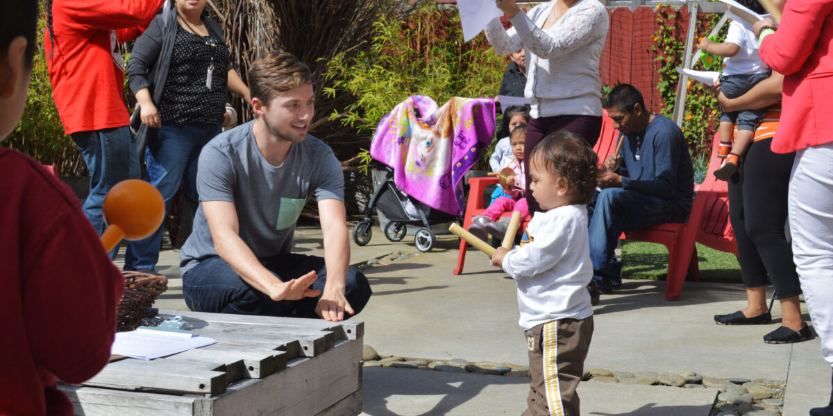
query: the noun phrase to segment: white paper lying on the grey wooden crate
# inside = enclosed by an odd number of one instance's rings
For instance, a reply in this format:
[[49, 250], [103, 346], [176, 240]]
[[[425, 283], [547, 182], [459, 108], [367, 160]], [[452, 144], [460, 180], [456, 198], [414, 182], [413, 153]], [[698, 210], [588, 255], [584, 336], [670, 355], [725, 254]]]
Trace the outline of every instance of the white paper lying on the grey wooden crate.
[[211, 344], [217, 344], [217, 340], [201, 336], [183, 337], [166, 334], [164, 331], [117, 332], [110, 354], [134, 359], [157, 359]]

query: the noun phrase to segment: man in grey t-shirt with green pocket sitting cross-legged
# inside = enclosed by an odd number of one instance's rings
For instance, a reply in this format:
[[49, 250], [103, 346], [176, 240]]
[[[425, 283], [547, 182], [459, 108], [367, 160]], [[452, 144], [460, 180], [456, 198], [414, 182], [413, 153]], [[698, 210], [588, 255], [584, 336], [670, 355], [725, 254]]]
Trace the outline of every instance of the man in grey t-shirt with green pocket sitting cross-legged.
[[[349, 267], [342, 167], [330, 146], [307, 135], [312, 73], [272, 52], [252, 64], [248, 80], [257, 119], [215, 137], [199, 158], [200, 207], [180, 255], [185, 302], [201, 312], [349, 318], [372, 292]], [[291, 253], [312, 195], [323, 259]]]

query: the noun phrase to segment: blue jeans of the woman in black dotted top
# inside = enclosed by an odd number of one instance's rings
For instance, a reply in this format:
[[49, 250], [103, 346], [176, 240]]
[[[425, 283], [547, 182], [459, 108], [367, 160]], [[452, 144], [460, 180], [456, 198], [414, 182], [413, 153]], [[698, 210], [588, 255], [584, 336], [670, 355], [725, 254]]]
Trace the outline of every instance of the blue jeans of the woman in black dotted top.
[[[220, 133], [222, 126], [213, 125], [169, 125], [157, 131], [156, 138], [147, 142], [145, 181], [156, 186], [165, 200], [165, 217], [171, 208], [171, 201], [177, 195], [183, 177], [185, 191], [191, 200], [191, 213], [196, 214], [199, 206], [197, 196], [197, 160], [200, 151], [208, 141]], [[124, 269], [152, 269], [159, 260], [162, 245], [162, 227], [144, 240], [128, 241], [124, 255]]]

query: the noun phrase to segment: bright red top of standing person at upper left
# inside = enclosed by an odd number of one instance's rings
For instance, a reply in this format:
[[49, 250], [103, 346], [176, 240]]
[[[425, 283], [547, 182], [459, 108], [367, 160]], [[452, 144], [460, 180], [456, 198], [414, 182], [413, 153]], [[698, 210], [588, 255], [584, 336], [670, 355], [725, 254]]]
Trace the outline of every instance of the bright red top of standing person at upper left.
[[[127, 126], [124, 70], [112, 55], [117, 42], [139, 37], [150, 25], [162, 0], [54, 0], [47, 54], [52, 97], [67, 134]], [[121, 60], [121, 58], [119, 58]]]

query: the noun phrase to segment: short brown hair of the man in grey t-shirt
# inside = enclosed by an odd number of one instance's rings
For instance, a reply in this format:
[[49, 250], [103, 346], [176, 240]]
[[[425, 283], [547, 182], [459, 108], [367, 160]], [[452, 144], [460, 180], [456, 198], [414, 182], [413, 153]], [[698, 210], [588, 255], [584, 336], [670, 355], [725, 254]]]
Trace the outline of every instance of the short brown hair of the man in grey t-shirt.
[[307, 64], [287, 52], [269, 52], [252, 62], [248, 72], [249, 91], [268, 105], [278, 94], [312, 84], [312, 72]]

